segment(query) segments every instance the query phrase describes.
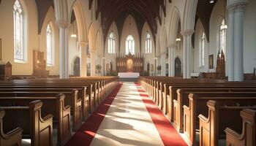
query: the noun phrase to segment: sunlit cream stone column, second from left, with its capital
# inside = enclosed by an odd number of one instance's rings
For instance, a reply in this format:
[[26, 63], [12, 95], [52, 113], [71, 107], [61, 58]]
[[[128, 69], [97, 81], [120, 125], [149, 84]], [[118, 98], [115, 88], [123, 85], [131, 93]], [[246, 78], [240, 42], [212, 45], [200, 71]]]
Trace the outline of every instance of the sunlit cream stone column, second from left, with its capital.
[[80, 77], [86, 77], [86, 42], [78, 42], [78, 47], [80, 49]]

